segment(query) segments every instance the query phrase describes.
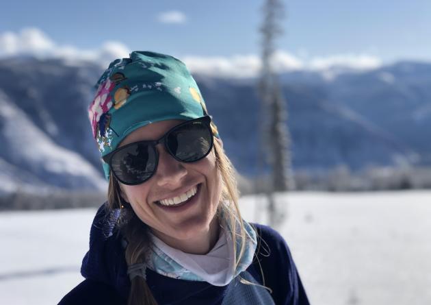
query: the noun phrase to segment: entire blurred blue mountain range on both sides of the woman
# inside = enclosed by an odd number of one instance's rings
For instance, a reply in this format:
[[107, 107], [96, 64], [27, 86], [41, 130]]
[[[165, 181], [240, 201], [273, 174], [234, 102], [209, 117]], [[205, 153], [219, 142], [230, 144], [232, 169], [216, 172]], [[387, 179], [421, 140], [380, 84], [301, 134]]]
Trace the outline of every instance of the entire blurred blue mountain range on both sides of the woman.
[[[91, 63], [0, 60], [0, 193], [105, 187], [87, 115], [101, 72]], [[257, 174], [257, 80], [195, 78], [235, 167]], [[431, 164], [431, 64], [296, 71], [280, 81], [293, 169]]]

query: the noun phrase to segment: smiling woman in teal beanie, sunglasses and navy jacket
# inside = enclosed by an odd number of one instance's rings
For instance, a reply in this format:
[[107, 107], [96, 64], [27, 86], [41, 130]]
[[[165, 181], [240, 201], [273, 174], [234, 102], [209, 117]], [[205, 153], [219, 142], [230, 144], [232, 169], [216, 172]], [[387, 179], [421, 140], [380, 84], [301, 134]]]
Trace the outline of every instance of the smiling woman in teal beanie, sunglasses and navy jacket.
[[109, 180], [86, 280], [60, 304], [309, 304], [283, 238], [239, 214], [231, 162], [185, 65], [134, 51], [90, 105]]

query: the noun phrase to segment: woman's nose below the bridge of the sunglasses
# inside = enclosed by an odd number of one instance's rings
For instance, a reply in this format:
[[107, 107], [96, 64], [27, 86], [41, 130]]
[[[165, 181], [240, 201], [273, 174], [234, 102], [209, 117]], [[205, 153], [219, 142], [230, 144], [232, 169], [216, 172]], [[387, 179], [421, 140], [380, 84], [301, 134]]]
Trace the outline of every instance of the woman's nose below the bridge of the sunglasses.
[[157, 145], [157, 152], [159, 154], [159, 164], [155, 173], [158, 186], [168, 186], [170, 188], [177, 188], [183, 182], [183, 177], [187, 175], [187, 169], [184, 164], [175, 160], [164, 145]]

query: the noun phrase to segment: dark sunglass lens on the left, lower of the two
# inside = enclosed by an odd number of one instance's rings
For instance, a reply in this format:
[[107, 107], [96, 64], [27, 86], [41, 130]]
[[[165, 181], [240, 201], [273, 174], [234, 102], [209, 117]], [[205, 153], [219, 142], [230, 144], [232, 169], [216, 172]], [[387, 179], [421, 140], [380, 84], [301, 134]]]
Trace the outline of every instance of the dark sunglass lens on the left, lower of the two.
[[117, 178], [126, 184], [140, 184], [151, 178], [156, 168], [156, 154], [153, 147], [137, 143], [120, 149], [111, 161]]

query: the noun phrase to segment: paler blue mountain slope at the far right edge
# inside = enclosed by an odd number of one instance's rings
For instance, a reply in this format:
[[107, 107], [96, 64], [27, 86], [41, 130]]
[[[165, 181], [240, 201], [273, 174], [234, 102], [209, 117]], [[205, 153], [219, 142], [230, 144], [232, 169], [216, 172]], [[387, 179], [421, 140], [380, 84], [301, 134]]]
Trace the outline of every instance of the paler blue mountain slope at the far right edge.
[[431, 163], [431, 64], [398, 62], [330, 84], [330, 99], [366, 117]]

